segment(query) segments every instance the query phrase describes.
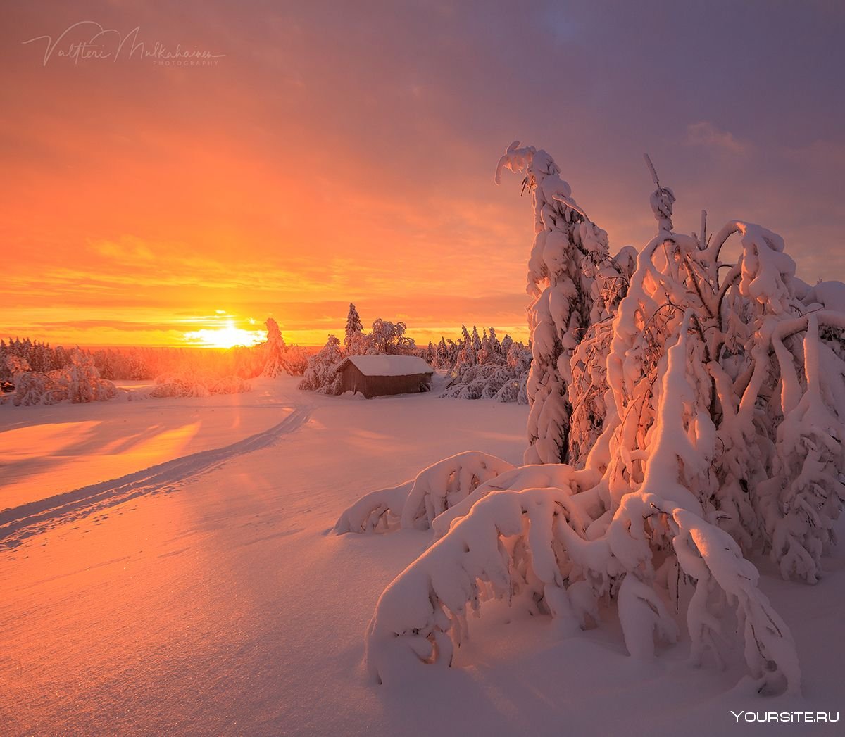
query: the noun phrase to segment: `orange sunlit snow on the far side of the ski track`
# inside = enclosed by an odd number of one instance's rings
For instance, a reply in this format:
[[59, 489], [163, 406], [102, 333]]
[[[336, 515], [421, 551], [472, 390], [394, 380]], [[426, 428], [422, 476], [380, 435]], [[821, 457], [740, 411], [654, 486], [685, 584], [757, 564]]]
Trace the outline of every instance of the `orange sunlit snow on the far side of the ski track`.
[[[138, 392], [150, 382], [120, 382]], [[243, 396], [89, 402], [68, 408], [0, 407], [0, 510], [106, 482], [270, 429], [302, 402], [294, 388]], [[117, 405], [117, 406], [116, 406]], [[95, 462], [92, 462], [95, 459]]]

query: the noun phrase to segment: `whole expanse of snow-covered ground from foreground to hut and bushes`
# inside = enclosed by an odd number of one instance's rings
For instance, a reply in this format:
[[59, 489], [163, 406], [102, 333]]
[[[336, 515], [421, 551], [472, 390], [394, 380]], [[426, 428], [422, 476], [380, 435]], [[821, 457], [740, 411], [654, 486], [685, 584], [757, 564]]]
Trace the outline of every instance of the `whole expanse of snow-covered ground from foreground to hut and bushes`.
[[845, 710], [842, 549], [815, 587], [755, 560], [797, 641], [800, 701], [733, 689], [740, 653], [692, 669], [683, 639], [644, 665], [609, 613], [560, 639], [500, 606], [472, 623], [461, 668], [373, 685], [364, 630], [431, 533], [330, 528], [461, 450], [521, 461], [527, 407], [295, 386], [0, 407], [0, 733], [842, 734], [731, 714]]

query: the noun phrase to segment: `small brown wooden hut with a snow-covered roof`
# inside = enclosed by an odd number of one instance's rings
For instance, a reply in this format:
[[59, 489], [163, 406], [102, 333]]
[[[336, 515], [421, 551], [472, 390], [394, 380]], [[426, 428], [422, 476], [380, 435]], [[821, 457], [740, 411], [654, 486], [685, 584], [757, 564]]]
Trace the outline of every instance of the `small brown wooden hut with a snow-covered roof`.
[[368, 399], [431, 390], [433, 368], [417, 356], [350, 356], [335, 367], [342, 391], [360, 391]]

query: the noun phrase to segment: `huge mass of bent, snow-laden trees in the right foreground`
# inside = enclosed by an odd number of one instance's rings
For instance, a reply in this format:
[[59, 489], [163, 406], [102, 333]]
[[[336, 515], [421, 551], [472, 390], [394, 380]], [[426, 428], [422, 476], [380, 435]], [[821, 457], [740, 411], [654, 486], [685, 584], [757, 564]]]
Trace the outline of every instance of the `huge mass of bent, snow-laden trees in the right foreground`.
[[[536, 173], [526, 186], [535, 206], [541, 198], [543, 207], [558, 203], [554, 217], [541, 210], [543, 228], [578, 223], [580, 241], [569, 226], [552, 238], [556, 268], [581, 280], [570, 271], [583, 268], [580, 226], [595, 231], [551, 157], [515, 144], [502, 161], [556, 177], [541, 194]], [[547, 614], [564, 631], [597, 625], [599, 600], [612, 601], [631, 656], [652, 658], [655, 638], [678, 635], [669, 612], [681, 606], [680, 582], [689, 581], [684, 614], [695, 663], [720, 662], [736, 630], [761, 693], [799, 690], [792, 636], [746, 556], [769, 554], [782, 576], [814, 583], [834, 543], [845, 497], [845, 285], [808, 287], [782, 238], [763, 227], [733, 221], [708, 238], [702, 216], [700, 234], [673, 232], [673, 202], [657, 183], [657, 236], [638, 254], [630, 283], [628, 257], [608, 259], [606, 245], [599, 248], [602, 268], [626, 282], [612, 319], [616, 278], [593, 281], [591, 303], [574, 277], [535, 298], [532, 337], [544, 347], [534, 360], [546, 383], [532, 394], [530, 438], [540, 438], [537, 402], [554, 402], [542, 412], [555, 418], [545, 437], [567, 423], [550, 443], [569, 444], [571, 464], [510, 468], [463, 454], [460, 467], [451, 458], [428, 468], [418, 489], [406, 483], [365, 498], [353, 508], [354, 524], [339, 525], [372, 529], [380, 509], [402, 517], [413, 488], [414, 526], [428, 522], [437, 538], [379, 598], [367, 634], [376, 680], [450, 664], [467, 614], [489, 598]], [[739, 258], [723, 263], [734, 235]], [[574, 251], [565, 243], [577, 247], [579, 265], [566, 260]], [[532, 273], [548, 278], [537, 248]], [[569, 306], [544, 306], [565, 295]], [[589, 324], [584, 310], [597, 304]], [[573, 323], [574, 314], [581, 317]], [[579, 343], [576, 328], [585, 325]], [[455, 473], [482, 460], [490, 475], [450, 494]]]

